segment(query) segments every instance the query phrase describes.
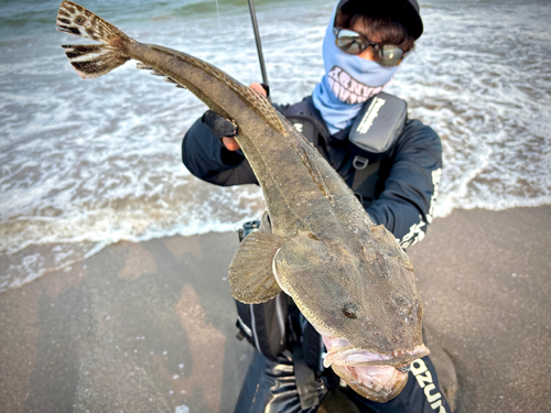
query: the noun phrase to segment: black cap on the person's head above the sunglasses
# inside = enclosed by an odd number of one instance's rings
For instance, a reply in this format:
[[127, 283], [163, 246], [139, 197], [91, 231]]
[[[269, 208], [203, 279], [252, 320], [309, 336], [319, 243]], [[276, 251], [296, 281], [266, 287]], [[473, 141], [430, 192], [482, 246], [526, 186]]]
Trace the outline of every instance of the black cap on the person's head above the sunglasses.
[[[338, 9], [350, 0], [341, 0]], [[364, 0], [364, 4], [374, 4], [378, 12], [383, 11], [389, 18], [396, 18], [417, 40], [423, 34], [423, 21], [419, 14], [417, 0]]]

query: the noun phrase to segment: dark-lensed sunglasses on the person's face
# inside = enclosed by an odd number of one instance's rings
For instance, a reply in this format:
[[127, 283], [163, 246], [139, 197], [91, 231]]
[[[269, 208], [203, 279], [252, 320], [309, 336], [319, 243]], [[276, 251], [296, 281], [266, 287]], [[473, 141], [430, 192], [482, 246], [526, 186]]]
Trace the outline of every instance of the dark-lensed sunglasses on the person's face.
[[348, 54], [358, 55], [371, 46], [375, 52], [375, 62], [381, 66], [398, 66], [406, 57], [406, 53], [400, 47], [393, 44], [370, 42], [366, 36], [353, 30], [333, 28], [333, 34], [335, 34], [337, 47]]

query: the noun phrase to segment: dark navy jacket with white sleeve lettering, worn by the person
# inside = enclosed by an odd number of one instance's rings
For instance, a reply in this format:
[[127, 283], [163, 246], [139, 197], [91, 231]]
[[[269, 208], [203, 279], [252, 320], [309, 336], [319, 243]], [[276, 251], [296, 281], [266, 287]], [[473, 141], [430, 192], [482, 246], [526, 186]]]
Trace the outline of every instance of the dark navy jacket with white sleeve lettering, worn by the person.
[[[311, 98], [305, 100], [307, 116], [318, 126], [315, 146], [352, 186], [355, 154], [348, 141], [343, 140], [349, 128], [331, 135]], [[298, 107], [304, 108], [304, 104], [276, 106], [287, 116], [296, 115]], [[215, 185], [258, 184], [242, 152], [230, 152], [222, 146], [201, 119], [184, 137], [182, 160], [193, 175]], [[402, 248], [424, 237], [432, 220], [441, 169], [442, 144], [436, 132], [419, 120], [408, 120], [396, 144], [380, 160], [375, 200], [366, 208], [376, 224], [383, 224], [400, 240]]]

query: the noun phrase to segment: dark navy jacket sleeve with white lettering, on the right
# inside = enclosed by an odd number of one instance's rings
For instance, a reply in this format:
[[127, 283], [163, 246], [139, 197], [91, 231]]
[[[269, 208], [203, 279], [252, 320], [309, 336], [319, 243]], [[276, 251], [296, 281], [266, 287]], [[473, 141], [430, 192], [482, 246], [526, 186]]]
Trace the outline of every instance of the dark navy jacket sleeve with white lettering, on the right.
[[442, 143], [434, 130], [409, 121], [397, 142], [385, 188], [366, 209], [408, 248], [421, 241], [432, 221], [442, 172]]

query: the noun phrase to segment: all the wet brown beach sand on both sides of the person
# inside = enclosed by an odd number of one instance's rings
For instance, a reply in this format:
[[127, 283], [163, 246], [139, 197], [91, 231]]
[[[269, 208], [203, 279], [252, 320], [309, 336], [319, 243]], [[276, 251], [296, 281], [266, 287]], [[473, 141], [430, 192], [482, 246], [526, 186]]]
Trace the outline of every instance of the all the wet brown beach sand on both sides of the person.
[[[253, 351], [235, 337], [237, 244], [120, 242], [0, 293], [0, 411], [233, 412]], [[408, 251], [457, 412], [550, 410], [550, 247], [544, 206], [455, 210]], [[344, 405], [337, 393], [321, 412]]]

